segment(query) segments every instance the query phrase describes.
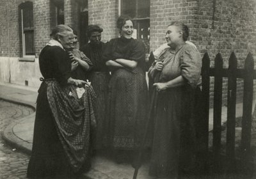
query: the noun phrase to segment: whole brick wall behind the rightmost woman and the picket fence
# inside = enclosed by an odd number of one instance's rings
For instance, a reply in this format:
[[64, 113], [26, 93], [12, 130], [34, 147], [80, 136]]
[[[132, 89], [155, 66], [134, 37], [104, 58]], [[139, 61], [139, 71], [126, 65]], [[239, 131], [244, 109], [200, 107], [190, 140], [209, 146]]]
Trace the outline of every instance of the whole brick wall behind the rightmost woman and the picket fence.
[[[255, 0], [151, 0], [150, 49], [165, 42], [165, 29], [170, 21], [182, 20], [190, 29], [189, 40], [198, 47], [202, 56], [208, 52], [211, 66], [218, 52], [228, 68], [228, 58], [235, 52], [239, 68], [252, 52], [256, 61], [256, 1]], [[255, 65], [256, 66], [256, 65]], [[211, 78], [211, 100], [214, 79]], [[256, 89], [256, 88], [255, 88]], [[237, 101], [243, 97], [243, 80], [237, 79]], [[223, 78], [223, 104], [227, 100], [227, 78]]]

